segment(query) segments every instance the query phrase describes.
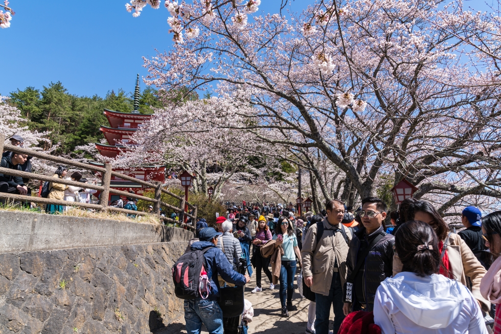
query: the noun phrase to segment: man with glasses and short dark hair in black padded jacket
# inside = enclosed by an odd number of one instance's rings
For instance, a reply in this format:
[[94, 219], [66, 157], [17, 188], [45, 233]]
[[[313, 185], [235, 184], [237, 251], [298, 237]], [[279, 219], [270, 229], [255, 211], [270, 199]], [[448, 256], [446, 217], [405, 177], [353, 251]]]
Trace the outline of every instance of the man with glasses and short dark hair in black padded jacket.
[[357, 212], [363, 226], [354, 233], [346, 259], [345, 315], [352, 310], [372, 311], [379, 284], [392, 275], [395, 237], [384, 231], [386, 210], [381, 199], [367, 197]]

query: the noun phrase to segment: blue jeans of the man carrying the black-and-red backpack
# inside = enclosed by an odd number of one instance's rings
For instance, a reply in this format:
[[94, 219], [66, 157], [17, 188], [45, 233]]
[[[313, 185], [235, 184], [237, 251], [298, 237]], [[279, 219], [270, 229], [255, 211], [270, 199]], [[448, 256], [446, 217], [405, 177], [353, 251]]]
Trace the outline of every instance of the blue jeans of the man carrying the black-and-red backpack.
[[199, 334], [202, 323], [210, 334], [223, 334], [222, 311], [217, 300], [184, 300], [184, 320], [188, 334]]

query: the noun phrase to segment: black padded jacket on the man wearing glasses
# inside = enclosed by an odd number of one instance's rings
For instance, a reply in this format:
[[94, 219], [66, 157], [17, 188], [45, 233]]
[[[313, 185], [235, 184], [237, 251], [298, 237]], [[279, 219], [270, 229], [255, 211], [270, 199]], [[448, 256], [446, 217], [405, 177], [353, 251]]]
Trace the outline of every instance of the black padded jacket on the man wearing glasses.
[[[357, 265], [361, 249], [366, 248], [379, 233], [384, 233], [384, 236], [369, 251], [365, 257], [365, 263], [360, 267], [353, 282], [353, 304], [355, 305], [357, 302], [365, 303], [367, 304], [367, 308], [364, 310], [369, 312], [373, 310], [374, 297], [379, 284], [393, 273], [393, 244], [395, 243], [395, 237], [391, 234], [386, 234], [384, 226], [366, 235], [365, 227], [362, 226], [355, 232], [350, 242], [348, 257], [346, 258], [347, 276], [350, 277], [352, 270]], [[364, 300], [357, 299], [357, 296], [363, 296]], [[344, 288], [344, 300], [346, 300], [346, 285]]]

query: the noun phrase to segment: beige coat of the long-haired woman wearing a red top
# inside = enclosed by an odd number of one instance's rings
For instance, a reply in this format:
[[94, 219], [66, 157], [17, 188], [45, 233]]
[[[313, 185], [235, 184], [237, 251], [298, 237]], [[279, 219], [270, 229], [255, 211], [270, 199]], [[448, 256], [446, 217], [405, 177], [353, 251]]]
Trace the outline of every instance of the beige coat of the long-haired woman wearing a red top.
[[[455, 233], [450, 234], [447, 255], [449, 256], [450, 271], [456, 281], [466, 286], [466, 276], [471, 278], [471, 293], [482, 306], [482, 310], [490, 310], [490, 302], [480, 294], [480, 280], [487, 272], [478, 262], [468, 245]], [[393, 256], [393, 276], [402, 271], [402, 262], [398, 255]]]

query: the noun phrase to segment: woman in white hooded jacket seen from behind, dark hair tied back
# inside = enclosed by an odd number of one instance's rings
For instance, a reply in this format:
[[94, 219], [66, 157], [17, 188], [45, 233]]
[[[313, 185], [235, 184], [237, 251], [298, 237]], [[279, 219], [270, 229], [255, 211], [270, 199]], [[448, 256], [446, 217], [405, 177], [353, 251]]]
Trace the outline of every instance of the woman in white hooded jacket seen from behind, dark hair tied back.
[[482, 311], [467, 287], [437, 274], [438, 237], [411, 220], [395, 235], [402, 272], [386, 278], [374, 300], [374, 323], [384, 334], [487, 334]]

